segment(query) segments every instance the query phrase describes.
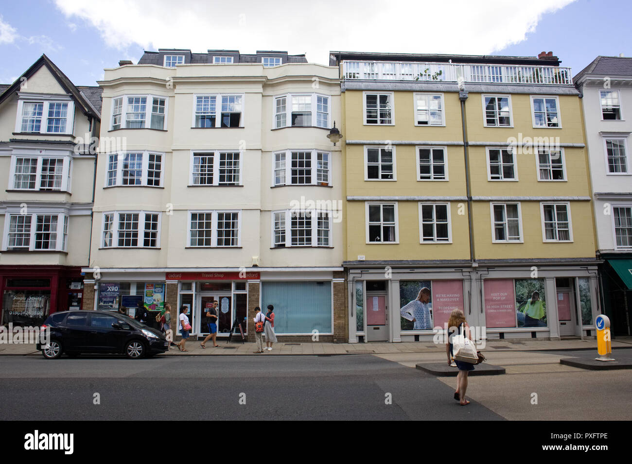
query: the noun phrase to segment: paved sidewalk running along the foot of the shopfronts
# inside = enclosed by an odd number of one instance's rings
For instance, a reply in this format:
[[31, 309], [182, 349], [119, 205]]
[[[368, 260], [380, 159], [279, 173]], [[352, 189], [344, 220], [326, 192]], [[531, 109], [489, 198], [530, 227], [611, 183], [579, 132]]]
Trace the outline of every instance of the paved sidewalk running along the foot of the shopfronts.
[[[191, 340], [186, 343], [188, 352], [179, 352], [172, 347], [165, 355], [169, 356], [221, 356], [221, 355], [253, 355], [255, 343], [218, 342], [219, 348], [213, 348], [209, 341], [207, 348], [200, 348], [200, 342]], [[612, 341], [612, 348], [632, 348], [632, 336], [618, 337]], [[484, 352], [502, 351], [557, 351], [557, 350], [595, 350], [597, 341], [589, 340], [494, 340], [487, 342]], [[445, 353], [445, 345], [432, 342], [371, 342], [371, 343], [275, 343], [270, 355], [344, 355], [344, 354], [394, 354], [394, 353]], [[34, 344], [0, 344], [0, 355], [39, 355]]]

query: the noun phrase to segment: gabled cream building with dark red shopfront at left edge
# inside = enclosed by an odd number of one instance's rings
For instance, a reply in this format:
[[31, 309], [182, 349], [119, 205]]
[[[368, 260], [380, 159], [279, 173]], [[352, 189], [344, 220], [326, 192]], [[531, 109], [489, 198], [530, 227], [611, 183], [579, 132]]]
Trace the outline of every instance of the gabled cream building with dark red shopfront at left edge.
[[75, 86], [46, 55], [0, 86], [3, 324], [39, 325], [84, 306], [100, 93]]

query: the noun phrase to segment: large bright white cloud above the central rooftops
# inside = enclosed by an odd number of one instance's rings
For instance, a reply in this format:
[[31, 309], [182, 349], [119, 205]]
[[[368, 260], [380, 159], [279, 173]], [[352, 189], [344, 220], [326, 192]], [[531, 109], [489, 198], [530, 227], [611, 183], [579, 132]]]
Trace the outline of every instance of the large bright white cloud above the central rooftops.
[[[546, 13], [575, 0], [400, 0], [362, 3], [260, 0], [55, 0], [68, 18], [97, 28], [124, 51], [186, 48], [307, 52], [328, 64], [329, 51], [490, 54], [526, 39]], [[300, 47], [300, 48], [296, 48]], [[533, 51], [537, 54], [538, 51]], [[136, 58], [138, 59], [138, 57]]]

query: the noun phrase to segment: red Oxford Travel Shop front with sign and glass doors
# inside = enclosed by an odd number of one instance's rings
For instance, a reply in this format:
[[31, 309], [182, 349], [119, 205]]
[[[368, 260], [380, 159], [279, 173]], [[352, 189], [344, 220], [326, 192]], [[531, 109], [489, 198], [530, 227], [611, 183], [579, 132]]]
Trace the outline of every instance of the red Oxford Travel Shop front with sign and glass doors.
[[258, 280], [258, 272], [209, 271], [167, 272], [165, 278], [178, 281], [178, 304], [187, 306], [193, 335], [209, 333], [205, 309], [218, 304], [217, 335], [228, 336], [234, 321], [246, 330], [248, 280]]

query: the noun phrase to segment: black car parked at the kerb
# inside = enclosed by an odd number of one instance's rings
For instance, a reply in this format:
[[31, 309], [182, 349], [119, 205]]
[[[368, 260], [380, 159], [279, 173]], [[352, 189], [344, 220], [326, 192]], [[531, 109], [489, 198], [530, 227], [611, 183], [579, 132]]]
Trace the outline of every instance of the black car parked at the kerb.
[[122, 353], [130, 359], [164, 353], [169, 342], [158, 330], [135, 319], [108, 311], [63, 311], [49, 316], [42, 330], [50, 328], [49, 343], [37, 343], [46, 359], [62, 353]]

